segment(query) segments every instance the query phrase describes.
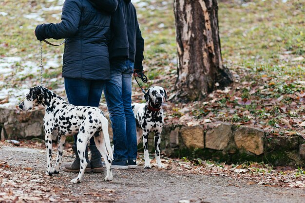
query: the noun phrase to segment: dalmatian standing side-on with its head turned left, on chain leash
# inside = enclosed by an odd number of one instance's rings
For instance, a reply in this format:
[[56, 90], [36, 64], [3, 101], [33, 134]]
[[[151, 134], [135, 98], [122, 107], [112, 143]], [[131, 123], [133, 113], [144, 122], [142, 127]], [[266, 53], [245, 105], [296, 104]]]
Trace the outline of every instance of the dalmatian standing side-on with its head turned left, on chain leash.
[[[111, 162], [113, 152], [110, 146], [108, 134], [108, 120], [103, 112], [97, 107], [83, 107], [69, 104], [55, 93], [43, 86], [37, 86], [26, 93], [26, 99], [21, 102], [19, 108], [27, 111], [41, 104], [45, 107], [43, 127], [45, 130], [45, 145], [47, 151], [47, 172], [46, 175], [59, 173], [62, 159], [62, 151], [66, 136], [77, 134], [77, 152], [80, 159], [80, 171], [77, 178], [71, 180], [72, 183], [80, 183], [84, 175], [87, 162], [85, 150], [87, 143], [92, 136], [102, 157], [106, 161], [107, 174], [105, 181], [111, 181]], [[53, 131], [58, 133], [57, 161], [52, 168], [52, 136]], [[95, 133], [96, 132], [96, 133]], [[108, 153], [107, 153], [108, 152]]]

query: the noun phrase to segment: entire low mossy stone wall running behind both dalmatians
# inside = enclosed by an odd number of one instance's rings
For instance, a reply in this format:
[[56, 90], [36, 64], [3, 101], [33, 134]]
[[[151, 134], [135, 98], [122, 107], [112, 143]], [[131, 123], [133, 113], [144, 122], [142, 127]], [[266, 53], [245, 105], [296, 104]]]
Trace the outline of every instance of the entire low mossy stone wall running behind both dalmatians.
[[[0, 126], [9, 138], [44, 137], [44, 109], [19, 111], [0, 108]], [[106, 117], [108, 117], [106, 115]], [[109, 122], [109, 134], [112, 128]], [[54, 135], [56, 138], [56, 135]], [[4, 139], [1, 130], [1, 139]], [[149, 150], [154, 152], [153, 135]], [[138, 146], [143, 150], [143, 144]], [[227, 163], [245, 161], [272, 165], [305, 166], [305, 140], [299, 135], [272, 137], [262, 129], [237, 127], [229, 123], [209, 126], [166, 126], [161, 134], [161, 150], [167, 156], [212, 159]]]

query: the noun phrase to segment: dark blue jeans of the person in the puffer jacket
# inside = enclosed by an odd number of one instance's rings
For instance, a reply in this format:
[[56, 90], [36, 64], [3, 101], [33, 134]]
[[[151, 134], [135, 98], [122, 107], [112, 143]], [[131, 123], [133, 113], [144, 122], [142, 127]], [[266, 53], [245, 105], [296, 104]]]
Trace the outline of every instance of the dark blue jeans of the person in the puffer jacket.
[[[98, 107], [105, 86], [104, 80], [84, 80], [65, 77], [65, 90], [70, 104], [75, 106]], [[77, 134], [74, 135], [76, 145]], [[95, 145], [94, 137], [90, 145]]]

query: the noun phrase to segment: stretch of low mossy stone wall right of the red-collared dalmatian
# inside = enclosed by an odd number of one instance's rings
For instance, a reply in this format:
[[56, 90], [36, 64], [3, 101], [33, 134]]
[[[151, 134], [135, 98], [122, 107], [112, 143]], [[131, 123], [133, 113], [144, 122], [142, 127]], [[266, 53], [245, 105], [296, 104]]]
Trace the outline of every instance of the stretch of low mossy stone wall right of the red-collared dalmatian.
[[[153, 136], [150, 150], [153, 151]], [[305, 166], [305, 140], [299, 135], [272, 137], [262, 129], [229, 123], [166, 127], [161, 148], [171, 156], [212, 159], [227, 163], [264, 162], [274, 166]]]

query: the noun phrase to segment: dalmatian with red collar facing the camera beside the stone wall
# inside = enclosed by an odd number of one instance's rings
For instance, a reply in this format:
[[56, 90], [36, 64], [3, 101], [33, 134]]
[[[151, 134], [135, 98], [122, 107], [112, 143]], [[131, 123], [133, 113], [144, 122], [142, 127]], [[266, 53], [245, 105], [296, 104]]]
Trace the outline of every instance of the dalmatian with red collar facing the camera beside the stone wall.
[[144, 95], [146, 103], [135, 103], [132, 105], [137, 127], [137, 144], [143, 137], [144, 168], [151, 168], [148, 153], [148, 135], [154, 133], [154, 149], [158, 168], [164, 168], [160, 159], [161, 132], [163, 129], [164, 115], [162, 110], [163, 98], [167, 101], [164, 88], [151, 87]]

